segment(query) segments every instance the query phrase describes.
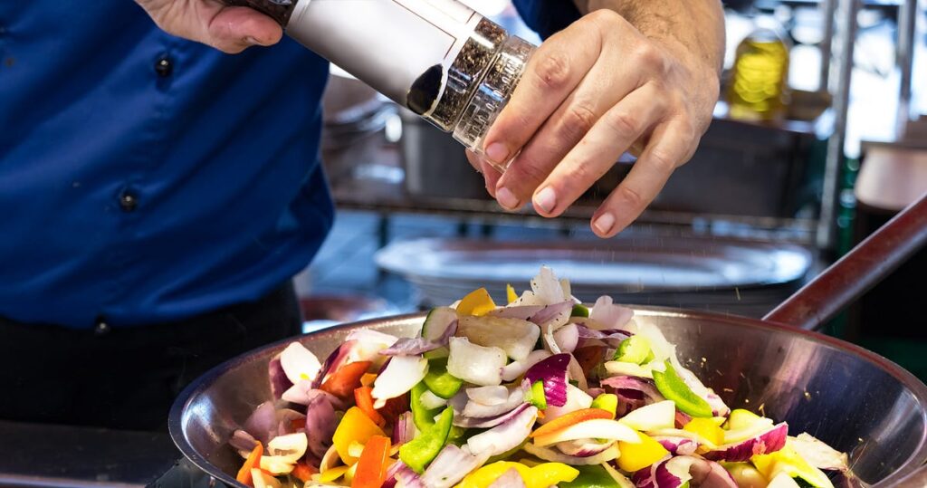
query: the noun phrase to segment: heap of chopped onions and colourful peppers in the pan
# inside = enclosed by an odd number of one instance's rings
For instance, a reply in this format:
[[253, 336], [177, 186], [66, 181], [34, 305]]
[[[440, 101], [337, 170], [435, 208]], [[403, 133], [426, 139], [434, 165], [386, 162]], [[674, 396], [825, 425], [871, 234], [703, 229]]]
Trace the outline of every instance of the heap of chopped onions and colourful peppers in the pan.
[[833, 488], [826, 470], [852, 475], [827, 444], [731, 410], [680, 366], [692, 358], [608, 297], [581, 304], [542, 268], [521, 294], [507, 286], [505, 303], [476, 289], [433, 309], [418, 337], [357, 329], [324, 362], [289, 344], [268, 367], [277, 401], [229, 441], [243, 458], [236, 480]]

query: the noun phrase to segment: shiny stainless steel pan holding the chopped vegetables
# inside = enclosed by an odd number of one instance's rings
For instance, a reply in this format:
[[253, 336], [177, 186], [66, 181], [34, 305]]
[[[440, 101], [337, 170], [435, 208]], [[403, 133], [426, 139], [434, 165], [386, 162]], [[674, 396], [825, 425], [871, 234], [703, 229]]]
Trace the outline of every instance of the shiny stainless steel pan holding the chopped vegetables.
[[[894, 363], [814, 332], [742, 317], [635, 307], [679, 345], [679, 357], [729, 405], [785, 420], [849, 453], [858, 478], [893, 486], [927, 461], [927, 386]], [[423, 315], [401, 315], [296, 338], [325, 357], [353, 329], [411, 336]], [[283, 340], [218, 366], [171, 409], [177, 446], [221, 482], [235, 482], [241, 458], [227, 444], [260, 403], [271, 399], [267, 363]]]

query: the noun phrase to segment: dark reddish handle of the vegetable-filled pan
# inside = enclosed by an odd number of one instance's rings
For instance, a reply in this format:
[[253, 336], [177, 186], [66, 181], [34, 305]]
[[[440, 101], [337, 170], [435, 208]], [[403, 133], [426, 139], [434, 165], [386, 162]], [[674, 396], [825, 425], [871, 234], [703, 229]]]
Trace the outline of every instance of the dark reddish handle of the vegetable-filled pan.
[[782, 302], [763, 320], [816, 330], [927, 244], [927, 194]]

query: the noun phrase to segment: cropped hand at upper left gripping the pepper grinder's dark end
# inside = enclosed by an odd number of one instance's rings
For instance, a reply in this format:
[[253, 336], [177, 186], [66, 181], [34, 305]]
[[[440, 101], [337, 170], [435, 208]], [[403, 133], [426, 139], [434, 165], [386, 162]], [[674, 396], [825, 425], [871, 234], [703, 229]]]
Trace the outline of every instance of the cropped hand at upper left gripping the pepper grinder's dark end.
[[274, 45], [283, 36], [280, 24], [246, 6], [217, 0], [135, 0], [165, 32], [211, 45], [228, 54], [251, 45]]

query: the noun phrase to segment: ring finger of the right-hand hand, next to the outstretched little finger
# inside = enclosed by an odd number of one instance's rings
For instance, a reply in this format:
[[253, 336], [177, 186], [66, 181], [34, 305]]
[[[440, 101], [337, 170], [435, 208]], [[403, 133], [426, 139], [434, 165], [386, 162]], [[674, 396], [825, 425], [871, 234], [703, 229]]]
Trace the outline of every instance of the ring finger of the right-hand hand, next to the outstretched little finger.
[[608, 109], [538, 186], [535, 211], [545, 217], [559, 215], [607, 173], [622, 153], [666, 116], [667, 104], [658, 94], [654, 83], [648, 83]]

